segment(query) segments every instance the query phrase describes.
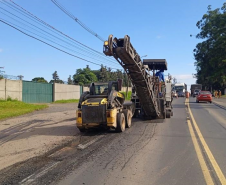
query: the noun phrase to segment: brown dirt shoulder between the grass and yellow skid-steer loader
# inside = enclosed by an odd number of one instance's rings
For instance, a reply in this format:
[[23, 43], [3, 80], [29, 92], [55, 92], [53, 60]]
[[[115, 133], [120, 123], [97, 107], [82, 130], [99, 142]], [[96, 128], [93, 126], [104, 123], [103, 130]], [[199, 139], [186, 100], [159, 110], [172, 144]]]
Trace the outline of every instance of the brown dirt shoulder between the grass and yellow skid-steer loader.
[[77, 103], [0, 121], [0, 170], [42, 155], [80, 134], [75, 123]]

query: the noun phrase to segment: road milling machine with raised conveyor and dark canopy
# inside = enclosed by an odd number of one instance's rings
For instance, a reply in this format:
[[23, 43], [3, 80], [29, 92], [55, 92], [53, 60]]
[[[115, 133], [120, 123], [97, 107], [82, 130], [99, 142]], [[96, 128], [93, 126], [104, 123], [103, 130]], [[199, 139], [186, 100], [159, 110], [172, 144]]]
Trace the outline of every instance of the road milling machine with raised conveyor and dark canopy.
[[[145, 118], [165, 119], [173, 115], [170, 79], [160, 82], [155, 76], [155, 70], [167, 70], [165, 59], [147, 59], [142, 62], [128, 35], [120, 39], [113, 39], [110, 35], [108, 41], [104, 42], [103, 52], [107, 56], [113, 56], [124, 68], [135, 88], [138, 97], [135, 101], [139, 101]], [[153, 75], [150, 71], [153, 71]], [[131, 100], [134, 101], [133, 98]], [[136, 108], [139, 109], [137, 105]]]

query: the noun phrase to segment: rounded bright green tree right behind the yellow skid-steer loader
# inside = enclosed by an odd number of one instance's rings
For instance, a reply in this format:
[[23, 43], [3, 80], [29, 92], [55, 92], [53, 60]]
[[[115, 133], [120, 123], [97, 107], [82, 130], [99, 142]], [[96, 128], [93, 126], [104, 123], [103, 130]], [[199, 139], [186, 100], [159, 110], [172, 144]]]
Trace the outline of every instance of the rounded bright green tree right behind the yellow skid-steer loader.
[[73, 75], [73, 81], [79, 85], [86, 85], [90, 84], [91, 82], [96, 82], [97, 77], [89, 67], [86, 67], [84, 69], [76, 70], [76, 73]]

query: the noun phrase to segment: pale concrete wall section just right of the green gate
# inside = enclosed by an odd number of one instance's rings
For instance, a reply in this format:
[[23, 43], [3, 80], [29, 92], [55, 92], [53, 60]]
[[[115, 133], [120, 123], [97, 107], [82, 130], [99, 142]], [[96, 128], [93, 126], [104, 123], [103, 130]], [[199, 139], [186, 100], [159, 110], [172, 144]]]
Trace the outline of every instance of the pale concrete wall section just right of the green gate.
[[80, 98], [80, 86], [79, 85], [66, 85], [55, 83], [53, 87], [54, 97], [53, 100], [68, 100]]

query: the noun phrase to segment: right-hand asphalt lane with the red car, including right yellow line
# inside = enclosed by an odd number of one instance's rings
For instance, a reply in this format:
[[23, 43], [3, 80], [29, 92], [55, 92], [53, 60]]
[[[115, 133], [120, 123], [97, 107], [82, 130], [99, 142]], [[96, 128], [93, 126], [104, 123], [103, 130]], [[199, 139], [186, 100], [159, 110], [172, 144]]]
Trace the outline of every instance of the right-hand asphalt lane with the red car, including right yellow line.
[[198, 137], [213, 183], [226, 184], [226, 110], [206, 102], [195, 103], [195, 98], [190, 98], [190, 108], [202, 134]]

